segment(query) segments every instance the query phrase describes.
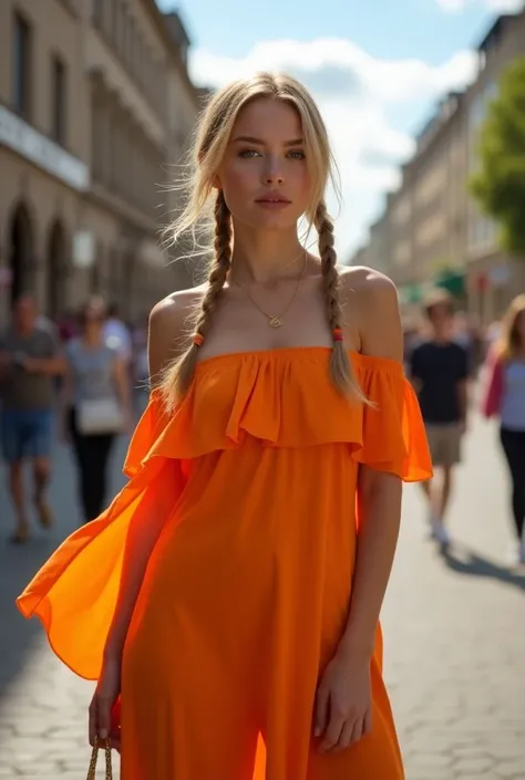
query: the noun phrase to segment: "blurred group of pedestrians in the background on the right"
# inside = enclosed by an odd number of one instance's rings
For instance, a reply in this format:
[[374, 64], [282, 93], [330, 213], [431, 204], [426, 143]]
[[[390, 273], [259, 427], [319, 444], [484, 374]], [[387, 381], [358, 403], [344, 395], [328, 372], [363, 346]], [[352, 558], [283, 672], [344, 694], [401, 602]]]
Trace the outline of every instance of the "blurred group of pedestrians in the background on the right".
[[[480, 368], [483, 367], [480, 376]], [[472, 392], [480, 378], [485, 417], [500, 420], [500, 438], [511, 477], [515, 544], [509, 563], [525, 563], [525, 295], [483, 335], [454, 312], [453, 299], [436, 292], [424, 305], [424, 321], [405, 332], [405, 370], [418, 393], [434, 466], [423, 482], [432, 537], [451, 542], [446, 510], [462, 443], [469, 430]]]

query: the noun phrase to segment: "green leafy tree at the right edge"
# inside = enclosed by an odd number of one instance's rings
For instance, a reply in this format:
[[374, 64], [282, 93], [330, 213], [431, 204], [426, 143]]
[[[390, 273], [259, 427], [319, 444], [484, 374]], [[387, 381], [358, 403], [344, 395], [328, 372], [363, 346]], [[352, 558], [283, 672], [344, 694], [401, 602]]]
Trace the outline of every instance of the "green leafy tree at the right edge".
[[502, 247], [525, 257], [525, 58], [507, 67], [488, 105], [470, 188], [498, 223]]

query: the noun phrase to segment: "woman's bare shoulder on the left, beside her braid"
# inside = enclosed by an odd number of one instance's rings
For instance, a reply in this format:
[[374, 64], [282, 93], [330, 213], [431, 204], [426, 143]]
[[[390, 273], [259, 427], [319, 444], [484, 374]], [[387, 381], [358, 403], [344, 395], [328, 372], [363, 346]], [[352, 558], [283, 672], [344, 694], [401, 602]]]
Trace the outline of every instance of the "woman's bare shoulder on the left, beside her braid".
[[198, 308], [206, 285], [178, 290], [156, 303], [150, 313], [147, 352], [150, 375], [162, 370], [188, 345], [191, 320]]

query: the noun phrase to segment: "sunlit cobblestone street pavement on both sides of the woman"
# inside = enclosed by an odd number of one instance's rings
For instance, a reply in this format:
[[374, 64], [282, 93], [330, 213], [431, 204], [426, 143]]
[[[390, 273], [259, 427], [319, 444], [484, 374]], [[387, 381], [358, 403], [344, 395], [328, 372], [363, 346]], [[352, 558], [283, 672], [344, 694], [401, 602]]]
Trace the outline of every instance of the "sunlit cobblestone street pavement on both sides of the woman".
[[[115, 453], [115, 489], [124, 446]], [[419, 488], [405, 490], [383, 611], [385, 676], [406, 780], [525, 780], [525, 573], [505, 566], [512, 537], [494, 427], [477, 422], [465, 454], [447, 557], [426, 538]], [[12, 603], [75, 526], [74, 474], [63, 450], [52, 498], [58, 526], [51, 537], [39, 533], [24, 549], [0, 539], [0, 778], [79, 780], [86, 772], [93, 686], [55, 661], [39, 625], [19, 617]], [[3, 487], [0, 507], [0, 534], [7, 534]]]

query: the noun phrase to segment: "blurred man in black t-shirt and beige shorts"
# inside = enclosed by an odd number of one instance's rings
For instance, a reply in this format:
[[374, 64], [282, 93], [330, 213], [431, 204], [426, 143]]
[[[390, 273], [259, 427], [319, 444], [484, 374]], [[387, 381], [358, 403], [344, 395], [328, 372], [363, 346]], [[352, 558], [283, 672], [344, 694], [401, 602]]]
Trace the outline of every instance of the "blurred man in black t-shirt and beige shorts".
[[466, 429], [467, 351], [452, 339], [453, 308], [445, 293], [428, 301], [425, 313], [431, 337], [412, 351], [410, 375], [426, 426], [434, 469], [442, 472], [441, 486], [423, 485], [430, 505], [433, 537], [449, 543], [443, 524], [452, 485], [452, 471], [461, 459], [461, 439]]

